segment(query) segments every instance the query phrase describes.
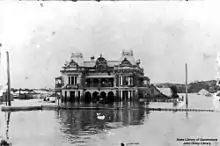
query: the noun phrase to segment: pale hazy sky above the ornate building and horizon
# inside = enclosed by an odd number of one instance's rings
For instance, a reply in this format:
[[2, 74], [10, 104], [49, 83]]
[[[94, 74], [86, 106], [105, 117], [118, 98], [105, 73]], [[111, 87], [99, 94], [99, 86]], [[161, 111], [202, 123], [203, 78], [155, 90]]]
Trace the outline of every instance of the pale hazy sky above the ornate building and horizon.
[[1, 49], [10, 52], [14, 88], [54, 87], [72, 52], [117, 60], [132, 49], [152, 83], [216, 75], [218, 4], [184, 2], [0, 3]]

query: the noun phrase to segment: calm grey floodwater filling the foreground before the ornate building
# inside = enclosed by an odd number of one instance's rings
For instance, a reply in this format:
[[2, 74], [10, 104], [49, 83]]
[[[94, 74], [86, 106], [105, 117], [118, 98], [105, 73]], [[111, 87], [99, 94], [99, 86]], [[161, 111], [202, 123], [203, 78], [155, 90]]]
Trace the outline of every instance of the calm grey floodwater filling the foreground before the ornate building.
[[[188, 142], [197, 138], [217, 139], [217, 142], [208, 142], [219, 145], [219, 112], [147, 111], [144, 108], [173, 107], [171, 103], [99, 106], [135, 109], [0, 112], [0, 136], [9, 139], [13, 146], [120, 146], [121, 142], [130, 146], [182, 146], [189, 138]], [[212, 97], [191, 94], [189, 107], [213, 109]], [[97, 119], [98, 112], [105, 115], [104, 120]]]

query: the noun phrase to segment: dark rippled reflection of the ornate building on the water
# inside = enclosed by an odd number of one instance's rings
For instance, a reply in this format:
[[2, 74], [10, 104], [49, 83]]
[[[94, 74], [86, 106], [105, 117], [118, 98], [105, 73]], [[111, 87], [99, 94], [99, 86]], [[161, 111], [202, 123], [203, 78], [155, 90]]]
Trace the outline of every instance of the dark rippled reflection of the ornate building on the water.
[[[82, 106], [73, 103], [74, 106]], [[68, 106], [73, 106], [71, 103]], [[85, 106], [85, 105], [84, 105]], [[105, 132], [106, 130], [116, 129], [129, 125], [143, 124], [145, 114], [149, 111], [145, 109], [145, 104], [138, 103], [114, 103], [112, 105], [94, 105], [87, 106], [100, 107], [125, 107], [124, 110], [59, 110], [56, 117], [59, 119], [61, 131], [66, 134], [67, 139], [74, 139], [82, 143], [80, 139], [89, 139], [89, 135]], [[134, 107], [135, 109], [129, 109]], [[104, 120], [97, 119], [97, 113], [105, 116]], [[72, 142], [73, 143], [73, 142]]]

